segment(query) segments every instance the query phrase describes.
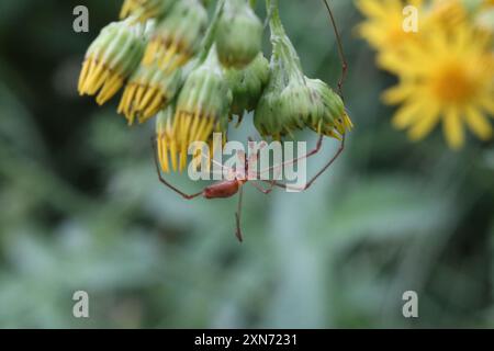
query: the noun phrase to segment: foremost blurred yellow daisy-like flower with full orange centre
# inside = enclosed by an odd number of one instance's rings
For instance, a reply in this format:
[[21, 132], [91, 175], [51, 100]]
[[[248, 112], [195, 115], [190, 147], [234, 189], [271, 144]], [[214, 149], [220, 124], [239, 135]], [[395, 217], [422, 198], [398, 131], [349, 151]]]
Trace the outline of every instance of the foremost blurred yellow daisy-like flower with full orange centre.
[[384, 101], [402, 103], [393, 118], [408, 128], [413, 140], [429, 134], [442, 121], [449, 146], [464, 143], [463, 124], [481, 139], [492, 137], [486, 115], [494, 114], [494, 56], [492, 37], [459, 23], [454, 31], [438, 25], [422, 45], [408, 43], [397, 59], [384, 54], [386, 66], [400, 77]]

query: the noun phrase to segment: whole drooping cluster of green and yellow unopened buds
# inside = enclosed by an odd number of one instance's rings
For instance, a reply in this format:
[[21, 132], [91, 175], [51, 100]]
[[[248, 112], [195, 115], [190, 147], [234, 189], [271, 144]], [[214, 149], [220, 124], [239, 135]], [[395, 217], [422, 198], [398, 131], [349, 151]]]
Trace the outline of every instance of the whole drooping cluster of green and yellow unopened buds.
[[[272, 55], [263, 56], [262, 22], [248, 0], [217, 0], [210, 18], [200, 0], [125, 0], [122, 20], [104, 27], [88, 48], [80, 94], [117, 107], [128, 124], [156, 116], [164, 171], [183, 170], [193, 141], [226, 136], [233, 116], [255, 114], [263, 137], [308, 127], [339, 138], [351, 122], [326, 83], [304, 76], [295, 48], [267, 0]], [[199, 154], [197, 157], [200, 156]]]

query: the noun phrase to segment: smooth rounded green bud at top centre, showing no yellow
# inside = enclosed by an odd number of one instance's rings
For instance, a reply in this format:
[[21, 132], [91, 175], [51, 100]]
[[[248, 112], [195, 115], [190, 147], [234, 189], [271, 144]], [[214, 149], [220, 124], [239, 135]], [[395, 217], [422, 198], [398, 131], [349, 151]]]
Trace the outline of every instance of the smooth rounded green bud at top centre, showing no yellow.
[[246, 0], [225, 3], [216, 31], [220, 61], [225, 67], [244, 68], [259, 54], [263, 26]]

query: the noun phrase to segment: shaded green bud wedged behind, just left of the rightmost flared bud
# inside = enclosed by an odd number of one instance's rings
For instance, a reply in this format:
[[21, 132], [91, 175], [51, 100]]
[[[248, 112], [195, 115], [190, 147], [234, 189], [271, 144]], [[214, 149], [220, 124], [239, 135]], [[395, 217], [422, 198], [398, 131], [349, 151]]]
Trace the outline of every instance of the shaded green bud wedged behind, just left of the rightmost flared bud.
[[225, 77], [233, 93], [231, 114], [242, 118], [245, 111], [256, 109], [269, 80], [269, 61], [259, 53], [244, 69], [226, 69]]

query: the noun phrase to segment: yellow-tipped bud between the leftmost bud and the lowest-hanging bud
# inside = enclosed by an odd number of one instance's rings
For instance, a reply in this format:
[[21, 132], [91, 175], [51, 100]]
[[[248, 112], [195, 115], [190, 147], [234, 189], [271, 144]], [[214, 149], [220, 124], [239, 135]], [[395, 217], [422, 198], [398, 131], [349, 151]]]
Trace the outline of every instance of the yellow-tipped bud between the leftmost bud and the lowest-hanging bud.
[[156, 63], [141, 65], [127, 82], [119, 113], [125, 114], [131, 125], [136, 117], [139, 123], [146, 122], [175, 98], [180, 81], [180, 69], [168, 71]]

